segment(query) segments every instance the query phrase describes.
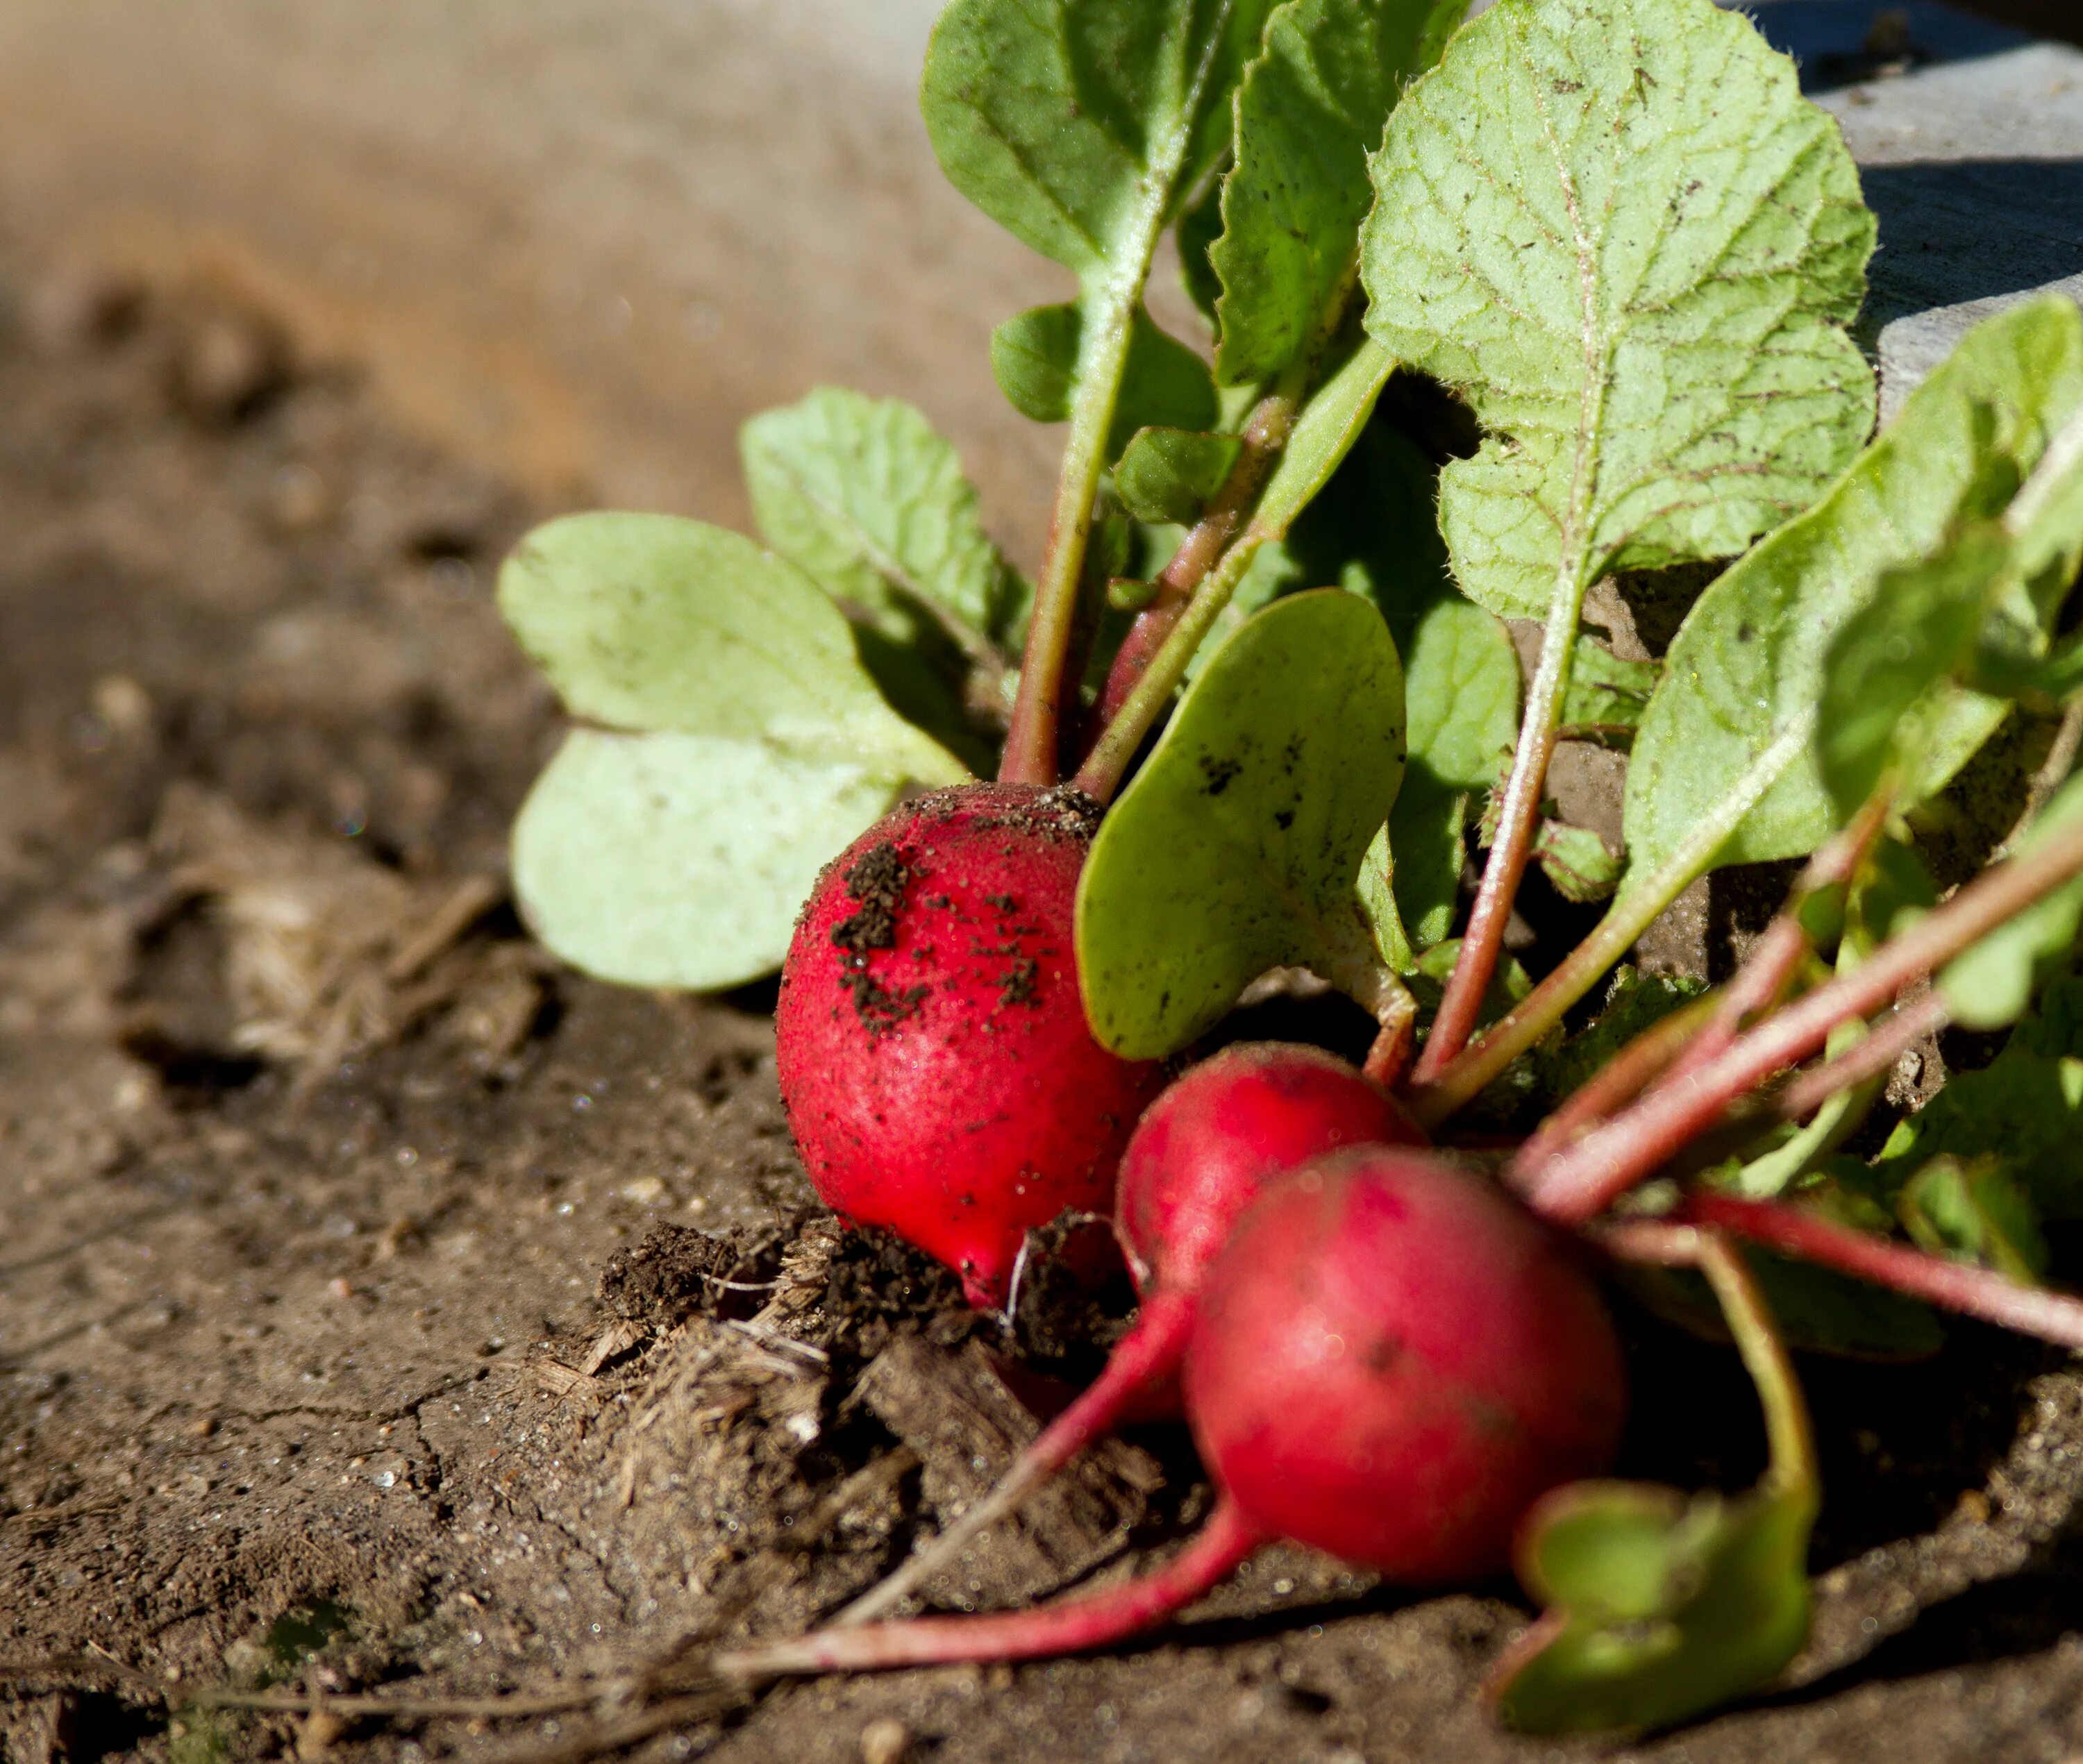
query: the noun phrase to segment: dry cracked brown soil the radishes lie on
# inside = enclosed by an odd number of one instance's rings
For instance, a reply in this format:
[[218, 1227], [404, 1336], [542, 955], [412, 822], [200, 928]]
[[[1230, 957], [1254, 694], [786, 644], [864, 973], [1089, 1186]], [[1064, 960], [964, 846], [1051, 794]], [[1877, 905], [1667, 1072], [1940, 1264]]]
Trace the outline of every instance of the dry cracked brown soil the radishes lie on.
[[[1296, 1552], [1112, 1658], [706, 1697], [689, 1643], [873, 1581], [1075, 1343], [1023, 1316], [1008, 1372], [933, 1270], [804, 1210], [769, 1000], [523, 939], [502, 837], [554, 723], [490, 577], [542, 510], [208, 287], [0, 258], [0, 412], [10, 1764], [2083, 1752], [2083, 1379], [1968, 1329], [1808, 1368], [1814, 1645], [1650, 1745], [1487, 1724], [1510, 1587]], [[1746, 1481], [1731, 1356], [1631, 1329], [1625, 1468]], [[1177, 1435], [1116, 1445], [935, 1597], [1127, 1572], [1202, 1502]]]

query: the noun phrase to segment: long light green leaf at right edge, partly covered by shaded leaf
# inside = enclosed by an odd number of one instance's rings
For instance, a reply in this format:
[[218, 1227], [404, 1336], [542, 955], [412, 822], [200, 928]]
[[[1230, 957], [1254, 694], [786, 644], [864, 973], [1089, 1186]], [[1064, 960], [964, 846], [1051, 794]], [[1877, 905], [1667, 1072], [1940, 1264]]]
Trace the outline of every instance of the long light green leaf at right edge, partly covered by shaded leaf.
[[[1791, 858], [1829, 835], [1837, 810], [1812, 744], [1831, 637], [1887, 571], [2000, 514], [2004, 485], [2079, 402], [2083, 314], [2071, 302], [1983, 321], [1823, 502], [1700, 596], [1629, 762], [1627, 889], [1654, 875], [1675, 893], [1712, 864]], [[2002, 706], [1958, 694], [1908, 796], [1941, 787], [2000, 719]]]

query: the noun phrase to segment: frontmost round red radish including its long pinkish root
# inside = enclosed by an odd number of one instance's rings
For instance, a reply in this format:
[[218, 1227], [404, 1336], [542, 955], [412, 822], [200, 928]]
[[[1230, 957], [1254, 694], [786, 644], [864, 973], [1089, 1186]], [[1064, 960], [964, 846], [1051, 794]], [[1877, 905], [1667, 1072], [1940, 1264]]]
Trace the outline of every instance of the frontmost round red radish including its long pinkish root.
[[989, 1616], [827, 1629], [737, 1674], [1029, 1660], [1121, 1641], [1277, 1537], [1437, 1585], [1502, 1568], [1548, 1489], [1612, 1462], [1612, 1318], [1568, 1245], [1479, 1177], [1402, 1145], [1275, 1181], [1208, 1268], [1185, 1356], [1221, 1500], [1148, 1581]]

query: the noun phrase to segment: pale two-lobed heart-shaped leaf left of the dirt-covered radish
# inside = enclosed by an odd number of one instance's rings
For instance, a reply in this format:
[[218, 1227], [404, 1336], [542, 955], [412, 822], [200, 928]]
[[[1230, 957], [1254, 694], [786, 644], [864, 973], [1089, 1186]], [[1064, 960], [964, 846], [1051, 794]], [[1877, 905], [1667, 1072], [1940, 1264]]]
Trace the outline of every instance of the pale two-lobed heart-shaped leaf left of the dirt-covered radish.
[[581, 723], [515, 827], [515, 891], [558, 956], [629, 985], [769, 973], [823, 866], [958, 760], [881, 700], [831, 600], [737, 533], [573, 514], [500, 610]]

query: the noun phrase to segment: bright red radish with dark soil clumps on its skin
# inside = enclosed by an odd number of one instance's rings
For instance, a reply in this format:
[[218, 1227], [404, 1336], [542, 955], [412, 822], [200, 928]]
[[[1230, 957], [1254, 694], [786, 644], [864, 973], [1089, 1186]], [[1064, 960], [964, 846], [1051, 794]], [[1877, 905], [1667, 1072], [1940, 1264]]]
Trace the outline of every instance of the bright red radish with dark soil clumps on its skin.
[[1002, 1304], [1021, 1241], [1102, 1212], [1162, 1068], [1085, 1027], [1071, 941], [1100, 808], [967, 785], [908, 802], [817, 881], [775, 1008], [781, 1102], [819, 1195]]

